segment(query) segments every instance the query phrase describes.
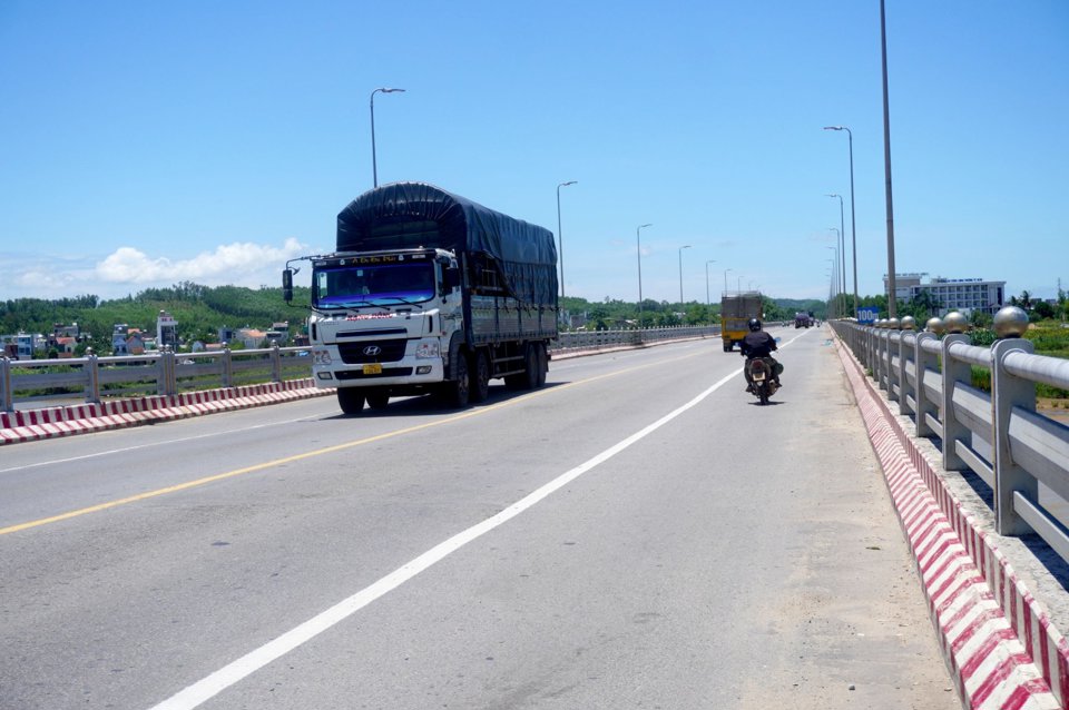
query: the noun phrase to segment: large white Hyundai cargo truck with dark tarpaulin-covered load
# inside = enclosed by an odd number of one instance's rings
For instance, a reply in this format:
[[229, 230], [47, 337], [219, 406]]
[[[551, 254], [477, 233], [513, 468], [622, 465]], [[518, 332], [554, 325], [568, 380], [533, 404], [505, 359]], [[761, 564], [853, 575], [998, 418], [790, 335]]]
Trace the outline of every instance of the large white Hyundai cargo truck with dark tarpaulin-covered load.
[[424, 183], [370, 190], [337, 215], [336, 250], [312, 265], [312, 377], [346, 414], [438, 393], [453, 406], [489, 382], [546, 383], [557, 337], [557, 247], [548, 229]]

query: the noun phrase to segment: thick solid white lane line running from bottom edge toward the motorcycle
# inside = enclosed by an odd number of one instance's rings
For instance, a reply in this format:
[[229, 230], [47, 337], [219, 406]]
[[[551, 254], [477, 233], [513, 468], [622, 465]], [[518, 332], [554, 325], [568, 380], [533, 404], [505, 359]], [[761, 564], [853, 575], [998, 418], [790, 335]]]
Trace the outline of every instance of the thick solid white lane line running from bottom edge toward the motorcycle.
[[553, 492], [560, 490], [562, 486], [568, 485], [586, 472], [601, 463], [605, 463], [616, 454], [629, 447], [631, 444], [635, 444], [636, 442], [645, 438], [647, 435], [656, 432], [658, 428], [673, 421], [687, 410], [694, 407], [710, 394], [719, 389], [722, 386], [737, 377], [741, 372], [741, 369], [734, 371], [683, 406], [669, 412], [653, 424], [649, 424], [645, 428], [631, 434], [614, 446], [606, 448], [594, 458], [590, 458], [585, 463], [579, 464], [571, 471], [568, 471], [567, 473], [553, 479], [542, 487], [529, 493], [527, 496], [517, 501], [497, 515], [488, 517], [481, 523], [477, 523], [468, 530], [453, 535], [444, 542], [439, 543], [411, 562], [401, 565], [390, 574], [380, 579], [377, 582], [374, 582], [370, 586], [356, 592], [349, 599], [342, 600], [326, 611], [321, 612], [312, 619], [308, 619], [304, 623], [291, 629], [273, 641], [268, 641], [258, 649], [246, 653], [242, 658], [228, 663], [227, 665], [224, 665], [210, 676], [195, 682], [177, 694], [171, 696], [167, 700], [164, 700], [156, 706], [153, 706], [151, 710], [192, 710], [193, 708], [197, 708], [231, 686], [234, 686], [243, 678], [258, 671], [272, 661], [282, 658], [306, 641], [311, 641], [318, 634], [356, 613], [380, 596], [383, 596], [401, 584], [404, 584], [420, 572], [426, 570], [438, 562], [441, 562], [453, 552], [457, 552], [467, 545], [469, 542], [479, 539], [499, 525], [503, 525]]

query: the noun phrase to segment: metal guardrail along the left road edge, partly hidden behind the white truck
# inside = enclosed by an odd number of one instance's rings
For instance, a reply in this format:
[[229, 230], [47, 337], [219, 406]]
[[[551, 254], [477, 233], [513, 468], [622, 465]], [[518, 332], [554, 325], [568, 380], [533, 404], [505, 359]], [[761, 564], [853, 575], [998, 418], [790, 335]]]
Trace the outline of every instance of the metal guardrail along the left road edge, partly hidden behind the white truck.
[[[648, 343], [719, 335], [718, 326], [561, 333], [551, 352], [640, 347]], [[307, 347], [210, 353], [169, 351], [130, 356], [16, 361], [0, 358], [0, 411], [16, 403], [174, 395], [179, 392], [301, 379], [312, 374]]]

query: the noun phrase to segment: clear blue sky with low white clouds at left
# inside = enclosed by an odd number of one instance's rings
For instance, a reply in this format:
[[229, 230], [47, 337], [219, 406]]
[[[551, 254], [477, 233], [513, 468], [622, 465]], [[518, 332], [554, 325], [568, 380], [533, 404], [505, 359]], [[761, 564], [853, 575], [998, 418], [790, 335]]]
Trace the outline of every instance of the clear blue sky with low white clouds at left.
[[[1069, 289], [1069, 2], [889, 0], [900, 273]], [[0, 299], [271, 285], [372, 186], [558, 231], [591, 300], [887, 270], [879, 0], [0, 0]], [[689, 248], [680, 252], [680, 247]], [[713, 263], [709, 263], [713, 262]], [[729, 270], [727, 270], [729, 269]], [[302, 276], [304, 276], [302, 274]], [[708, 289], [708, 292], [707, 292]]]

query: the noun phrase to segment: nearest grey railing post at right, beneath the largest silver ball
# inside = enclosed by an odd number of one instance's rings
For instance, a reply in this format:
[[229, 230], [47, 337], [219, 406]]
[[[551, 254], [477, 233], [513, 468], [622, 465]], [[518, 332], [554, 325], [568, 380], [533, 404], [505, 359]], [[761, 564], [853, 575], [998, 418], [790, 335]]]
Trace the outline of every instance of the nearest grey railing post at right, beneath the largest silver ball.
[[1002, 364], [1011, 352], [1032, 354], [1034, 345], [1024, 338], [998, 341], [991, 347], [991, 405], [994, 448], [994, 517], [1000, 535], [1020, 535], [1031, 526], [1013, 510], [1013, 493], [1020, 492], [1029, 501], [1039, 502], [1039, 484], [1024, 469], [1013, 462], [1010, 453], [1010, 415], [1014, 407], [1036, 411], [1036, 383], [1014, 377]]

